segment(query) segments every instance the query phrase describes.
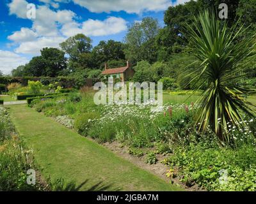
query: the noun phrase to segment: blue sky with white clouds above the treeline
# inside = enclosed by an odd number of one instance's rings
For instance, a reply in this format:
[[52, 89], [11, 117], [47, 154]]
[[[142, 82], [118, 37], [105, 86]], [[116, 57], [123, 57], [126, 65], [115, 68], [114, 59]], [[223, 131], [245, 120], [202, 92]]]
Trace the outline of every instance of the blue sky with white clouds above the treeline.
[[[164, 10], [186, 0], [2, 0], [0, 2], [0, 70], [8, 74], [77, 33], [93, 40], [123, 41], [127, 26], [143, 17], [164, 25]], [[188, 1], [188, 0], [187, 0]], [[35, 4], [35, 19], [28, 4]]]

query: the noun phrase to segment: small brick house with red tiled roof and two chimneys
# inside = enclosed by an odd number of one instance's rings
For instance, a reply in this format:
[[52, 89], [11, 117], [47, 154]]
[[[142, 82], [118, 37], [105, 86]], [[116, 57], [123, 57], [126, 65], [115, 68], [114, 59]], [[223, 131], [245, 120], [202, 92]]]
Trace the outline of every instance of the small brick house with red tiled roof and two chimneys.
[[102, 75], [106, 77], [120, 78], [122, 82], [126, 82], [133, 77], [134, 70], [129, 61], [127, 61], [127, 65], [122, 68], [108, 69], [108, 64], [105, 64], [105, 69], [102, 71]]

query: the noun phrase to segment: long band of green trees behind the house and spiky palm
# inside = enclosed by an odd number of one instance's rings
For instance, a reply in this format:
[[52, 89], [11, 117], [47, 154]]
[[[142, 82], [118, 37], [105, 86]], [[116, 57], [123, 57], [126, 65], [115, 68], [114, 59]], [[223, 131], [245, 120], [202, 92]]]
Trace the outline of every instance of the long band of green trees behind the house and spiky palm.
[[[179, 72], [194, 60], [189, 55], [189, 40], [184, 38], [182, 31], [185, 25], [193, 26], [193, 16], [202, 9], [214, 9], [218, 15], [220, 3], [228, 5], [230, 27], [240, 18], [239, 24], [251, 25], [244, 38], [256, 33], [255, 0], [191, 0], [169, 7], [164, 13], [164, 27], [160, 27], [156, 19], [146, 17], [129, 26], [124, 42], [100, 41], [95, 47], [88, 36], [76, 34], [60, 44], [61, 50], [42, 49], [40, 56], [14, 69], [12, 75], [94, 78], [99, 77], [104, 63], [108, 62], [108, 66], [113, 68], [124, 66], [129, 60], [136, 71], [134, 79], [138, 81], [172, 77], [182, 86]], [[255, 77], [255, 61], [248, 62], [248, 69], [244, 72], [248, 78]]]

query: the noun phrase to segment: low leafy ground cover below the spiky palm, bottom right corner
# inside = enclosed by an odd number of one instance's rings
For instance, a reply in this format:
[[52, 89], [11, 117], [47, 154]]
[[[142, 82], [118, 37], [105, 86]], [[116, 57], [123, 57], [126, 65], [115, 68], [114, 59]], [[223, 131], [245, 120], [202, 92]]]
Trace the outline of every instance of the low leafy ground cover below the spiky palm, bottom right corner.
[[[196, 183], [208, 191], [255, 191], [255, 161], [252, 145], [233, 150], [198, 143], [175, 149], [164, 163], [179, 167], [180, 180], [187, 186]], [[227, 171], [226, 179], [223, 171]], [[221, 179], [226, 182], [221, 184]]]

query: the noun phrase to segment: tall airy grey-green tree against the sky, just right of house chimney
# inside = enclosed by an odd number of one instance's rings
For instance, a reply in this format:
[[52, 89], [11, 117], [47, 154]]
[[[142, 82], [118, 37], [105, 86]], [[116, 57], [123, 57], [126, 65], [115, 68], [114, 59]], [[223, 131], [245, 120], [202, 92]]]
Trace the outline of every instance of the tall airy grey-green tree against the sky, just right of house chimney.
[[156, 35], [159, 23], [151, 17], [143, 18], [141, 22], [132, 24], [125, 36], [125, 57], [132, 63], [138, 61], [154, 62], [157, 58]]

